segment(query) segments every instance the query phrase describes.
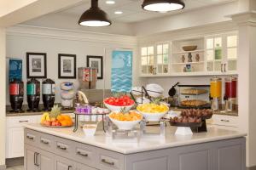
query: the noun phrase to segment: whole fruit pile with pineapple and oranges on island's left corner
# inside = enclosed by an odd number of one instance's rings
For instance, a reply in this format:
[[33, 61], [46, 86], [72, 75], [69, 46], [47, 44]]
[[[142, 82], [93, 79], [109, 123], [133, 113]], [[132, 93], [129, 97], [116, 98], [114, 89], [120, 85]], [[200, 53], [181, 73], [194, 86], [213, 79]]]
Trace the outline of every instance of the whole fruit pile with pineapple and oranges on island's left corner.
[[71, 116], [61, 115], [61, 108], [55, 105], [50, 112], [44, 112], [41, 117], [41, 125], [44, 127], [72, 127]]

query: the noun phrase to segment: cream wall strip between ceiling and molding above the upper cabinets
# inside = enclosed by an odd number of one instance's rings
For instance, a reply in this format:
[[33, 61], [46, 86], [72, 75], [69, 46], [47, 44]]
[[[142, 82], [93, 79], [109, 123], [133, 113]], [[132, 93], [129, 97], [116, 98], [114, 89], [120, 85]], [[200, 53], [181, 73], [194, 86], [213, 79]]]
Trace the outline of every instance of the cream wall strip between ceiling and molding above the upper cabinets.
[[150, 35], [163, 31], [175, 31], [178, 29], [192, 28], [194, 26], [206, 26], [230, 20], [226, 17], [236, 14], [237, 2], [219, 4], [207, 8], [198, 8], [181, 14], [174, 14], [154, 20], [145, 20], [133, 25], [137, 36]]

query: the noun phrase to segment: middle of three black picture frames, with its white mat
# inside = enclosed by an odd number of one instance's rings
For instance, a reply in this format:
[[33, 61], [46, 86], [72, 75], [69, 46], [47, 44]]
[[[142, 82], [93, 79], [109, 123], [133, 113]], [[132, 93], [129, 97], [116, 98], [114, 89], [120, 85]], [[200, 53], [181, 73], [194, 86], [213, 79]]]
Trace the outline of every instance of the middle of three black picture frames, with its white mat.
[[[65, 71], [64, 64], [62, 63], [62, 59], [67, 58], [67, 59], [73, 59], [73, 64], [70, 62], [68, 65], [67, 72]], [[64, 62], [64, 61], [63, 61]], [[61, 65], [63, 70], [61, 71]], [[69, 74], [69, 71], [70, 74]], [[68, 75], [69, 74], [69, 75]], [[76, 54], [58, 54], [58, 77], [60, 79], [76, 79], [77, 78], [77, 55]]]

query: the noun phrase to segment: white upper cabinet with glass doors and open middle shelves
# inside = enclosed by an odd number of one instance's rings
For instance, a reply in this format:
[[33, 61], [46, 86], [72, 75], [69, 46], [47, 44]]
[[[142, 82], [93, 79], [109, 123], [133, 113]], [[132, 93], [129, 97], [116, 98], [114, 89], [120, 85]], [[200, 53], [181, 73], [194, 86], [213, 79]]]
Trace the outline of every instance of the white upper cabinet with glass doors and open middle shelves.
[[143, 46], [141, 77], [237, 74], [237, 42], [237, 32], [228, 32]]

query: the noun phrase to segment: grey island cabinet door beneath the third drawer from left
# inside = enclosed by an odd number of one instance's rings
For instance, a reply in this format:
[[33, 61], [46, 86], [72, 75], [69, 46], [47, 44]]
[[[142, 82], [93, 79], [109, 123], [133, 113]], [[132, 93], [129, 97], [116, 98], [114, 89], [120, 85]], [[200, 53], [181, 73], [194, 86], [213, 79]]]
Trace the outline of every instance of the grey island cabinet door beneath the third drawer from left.
[[61, 156], [55, 156], [55, 170], [75, 170], [75, 163]]

